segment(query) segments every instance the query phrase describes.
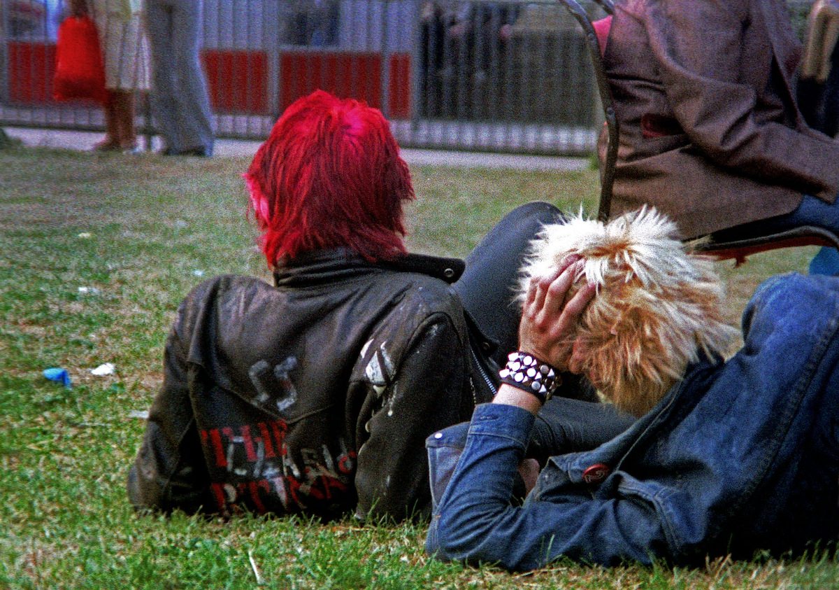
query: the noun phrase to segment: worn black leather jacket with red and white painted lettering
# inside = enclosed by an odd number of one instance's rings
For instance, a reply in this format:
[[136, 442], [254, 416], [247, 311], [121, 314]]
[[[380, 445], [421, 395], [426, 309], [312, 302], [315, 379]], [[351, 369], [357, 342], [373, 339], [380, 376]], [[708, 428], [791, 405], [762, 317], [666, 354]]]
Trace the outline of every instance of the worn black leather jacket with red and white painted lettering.
[[[430, 504], [425, 438], [492, 398], [462, 261], [346, 250], [216, 277], [181, 303], [128, 477], [138, 508], [404, 519]], [[479, 343], [475, 343], [476, 345]]]

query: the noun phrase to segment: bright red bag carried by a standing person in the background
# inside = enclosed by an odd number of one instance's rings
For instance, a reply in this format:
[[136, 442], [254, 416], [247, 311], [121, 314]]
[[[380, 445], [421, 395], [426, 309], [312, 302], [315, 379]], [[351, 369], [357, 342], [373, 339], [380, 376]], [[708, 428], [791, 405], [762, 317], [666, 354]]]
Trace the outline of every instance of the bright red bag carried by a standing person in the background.
[[61, 22], [55, 45], [53, 97], [105, 102], [105, 67], [99, 34], [90, 17], [71, 16]]

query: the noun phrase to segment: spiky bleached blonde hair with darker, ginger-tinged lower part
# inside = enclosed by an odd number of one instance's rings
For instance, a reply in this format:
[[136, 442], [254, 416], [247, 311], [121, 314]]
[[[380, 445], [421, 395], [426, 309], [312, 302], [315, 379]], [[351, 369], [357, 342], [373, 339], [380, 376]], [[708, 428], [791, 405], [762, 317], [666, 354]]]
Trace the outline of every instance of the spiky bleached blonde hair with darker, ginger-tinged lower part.
[[618, 408], [647, 413], [700, 350], [722, 355], [737, 333], [722, 318], [713, 262], [687, 251], [675, 224], [654, 208], [607, 224], [579, 214], [545, 226], [522, 268], [519, 299], [531, 277], [550, 276], [572, 254], [584, 265], [569, 298], [585, 282], [597, 285], [597, 295], [569, 338], [586, 352], [581, 372]]

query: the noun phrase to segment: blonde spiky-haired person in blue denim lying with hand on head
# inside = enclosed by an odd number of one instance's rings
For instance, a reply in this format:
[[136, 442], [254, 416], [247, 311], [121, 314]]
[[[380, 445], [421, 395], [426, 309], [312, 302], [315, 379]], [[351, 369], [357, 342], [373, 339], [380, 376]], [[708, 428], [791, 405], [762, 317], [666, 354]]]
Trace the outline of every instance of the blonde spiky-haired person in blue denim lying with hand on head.
[[[426, 440], [428, 553], [511, 570], [692, 565], [839, 540], [839, 279], [764, 282], [727, 361], [722, 287], [652, 209], [545, 227], [498, 393]], [[574, 373], [638, 419], [593, 450], [558, 438], [519, 504], [513, 482], [557, 407], [545, 402]], [[610, 407], [593, 404], [588, 425], [554, 413], [552, 427], [597, 429]]]

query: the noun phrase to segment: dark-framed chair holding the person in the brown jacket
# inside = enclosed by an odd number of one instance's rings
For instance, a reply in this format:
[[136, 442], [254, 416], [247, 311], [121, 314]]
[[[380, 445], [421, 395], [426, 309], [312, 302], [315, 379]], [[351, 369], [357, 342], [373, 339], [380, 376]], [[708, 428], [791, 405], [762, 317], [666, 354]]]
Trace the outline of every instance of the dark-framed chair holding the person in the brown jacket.
[[[597, 91], [603, 107], [603, 117], [605, 119], [608, 141], [606, 155], [601, 166], [600, 204], [597, 210], [597, 218], [605, 221], [609, 217], [615, 161], [618, 158], [618, 119], [615, 117], [612, 92], [609, 89], [609, 81], [603, 66], [602, 47], [597, 39], [596, 24], [592, 22], [586, 10], [576, 0], [559, 1], [576, 18], [582, 27], [583, 33], [586, 35], [586, 45], [591, 55], [591, 64], [594, 68]], [[614, 12], [612, 0], [595, 0], [595, 2], [608, 15]], [[816, 3], [816, 6], [819, 4]], [[759, 225], [748, 224], [748, 226], [743, 227], [735, 226], [714, 232], [708, 235], [706, 240], [698, 241], [696, 250], [704, 251], [720, 260], [733, 259], [737, 265], [742, 264], [748, 255], [767, 250], [777, 250], [779, 248], [821, 245], [839, 250], [839, 236], [828, 229], [811, 225], [801, 225], [781, 232], [767, 234], [761, 231]]]

